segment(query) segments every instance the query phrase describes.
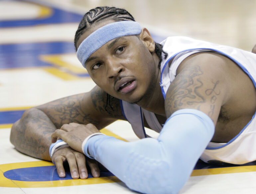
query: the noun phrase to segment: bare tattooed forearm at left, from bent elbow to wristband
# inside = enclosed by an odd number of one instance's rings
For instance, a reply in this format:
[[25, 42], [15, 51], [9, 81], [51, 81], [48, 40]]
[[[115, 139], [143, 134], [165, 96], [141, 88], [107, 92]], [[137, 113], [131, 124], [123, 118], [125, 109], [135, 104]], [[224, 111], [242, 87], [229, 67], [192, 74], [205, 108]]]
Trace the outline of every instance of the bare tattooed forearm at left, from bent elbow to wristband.
[[55, 125], [43, 111], [31, 108], [13, 124], [10, 141], [24, 154], [51, 161], [49, 146], [55, 130]]

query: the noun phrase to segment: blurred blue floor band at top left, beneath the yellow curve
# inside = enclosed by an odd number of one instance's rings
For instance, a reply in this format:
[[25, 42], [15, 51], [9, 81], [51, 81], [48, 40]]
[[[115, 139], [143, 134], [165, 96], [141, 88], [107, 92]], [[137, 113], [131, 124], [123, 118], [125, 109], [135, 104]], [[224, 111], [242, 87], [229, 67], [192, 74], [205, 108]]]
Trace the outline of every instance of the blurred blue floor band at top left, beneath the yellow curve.
[[43, 24], [60, 24], [60, 23], [71, 23], [80, 22], [82, 19], [81, 14], [76, 14], [57, 8], [51, 8], [52, 15], [47, 18], [37, 18], [33, 20], [14, 20], [14, 21], [0, 21], [0, 28], [7, 27], [22, 27], [22, 26], [34, 26]]

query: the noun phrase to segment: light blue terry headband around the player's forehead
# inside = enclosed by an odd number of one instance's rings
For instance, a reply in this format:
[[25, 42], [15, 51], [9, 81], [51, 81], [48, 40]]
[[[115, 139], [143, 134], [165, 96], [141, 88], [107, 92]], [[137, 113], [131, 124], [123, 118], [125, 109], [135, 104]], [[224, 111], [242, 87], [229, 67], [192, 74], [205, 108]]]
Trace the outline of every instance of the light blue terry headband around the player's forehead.
[[107, 24], [91, 33], [77, 49], [76, 56], [85, 67], [85, 61], [97, 49], [107, 42], [122, 36], [138, 35], [141, 33], [141, 26], [138, 22], [122, 21]]

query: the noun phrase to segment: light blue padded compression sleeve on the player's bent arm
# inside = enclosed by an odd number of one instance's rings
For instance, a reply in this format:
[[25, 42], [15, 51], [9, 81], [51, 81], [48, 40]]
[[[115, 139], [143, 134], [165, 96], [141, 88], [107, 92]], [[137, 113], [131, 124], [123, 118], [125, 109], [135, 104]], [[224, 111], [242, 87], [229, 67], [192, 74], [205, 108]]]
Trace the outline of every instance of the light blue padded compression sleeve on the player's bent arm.
[[157, 139], [123, 142], [93, 136], [84, 146], [130, 189], [147, 194], [178, 193], [214, 133], [203, 112], [181, 109], [166, 121]]

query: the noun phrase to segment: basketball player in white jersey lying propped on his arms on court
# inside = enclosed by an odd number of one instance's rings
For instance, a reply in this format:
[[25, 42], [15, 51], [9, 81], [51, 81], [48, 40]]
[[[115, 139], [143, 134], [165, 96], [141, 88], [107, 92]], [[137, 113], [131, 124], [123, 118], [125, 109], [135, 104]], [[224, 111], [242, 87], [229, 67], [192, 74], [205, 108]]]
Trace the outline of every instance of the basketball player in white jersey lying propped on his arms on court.
[[[67, 161], [72, 178], [87, 178], [86, 156], [94, 177], [96, 160], [132, 190], [177, 193], [199, 158], [256, 160], [256, 54], [187, 37], [158, 44], [126, 10], [109, 7], [84, 15], [75, 47], [97, 86], [27, 110], [11, 130], [16, 149], [52, 160], [60, 177]], [[118, 119], [141, 140], [99, 132]]]

